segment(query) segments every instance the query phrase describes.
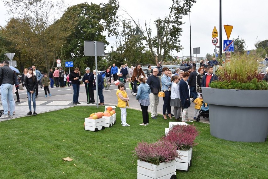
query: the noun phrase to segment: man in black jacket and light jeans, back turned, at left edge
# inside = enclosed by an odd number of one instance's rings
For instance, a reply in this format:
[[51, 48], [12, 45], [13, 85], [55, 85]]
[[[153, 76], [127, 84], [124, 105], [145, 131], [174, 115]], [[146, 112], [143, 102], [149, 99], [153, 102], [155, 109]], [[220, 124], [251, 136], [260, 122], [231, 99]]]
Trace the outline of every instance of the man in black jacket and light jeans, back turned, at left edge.
[[[1, 86], [1, 100], [3, 103], [4, 114], [0, 119], [7, 117], [13, 117], [14, 109], [14, 98], [13, 98], [13, 85], [16, 81], [16, 76], [14, 76], [13, 70], [9, 68], [9, 62], [4, 61], [3, 67], [0, 68], [0, 86]], [[8, 99], [8, 101], [7, 101]], [[9, 103], [9, 115], [8, 115], [8, 103]]]

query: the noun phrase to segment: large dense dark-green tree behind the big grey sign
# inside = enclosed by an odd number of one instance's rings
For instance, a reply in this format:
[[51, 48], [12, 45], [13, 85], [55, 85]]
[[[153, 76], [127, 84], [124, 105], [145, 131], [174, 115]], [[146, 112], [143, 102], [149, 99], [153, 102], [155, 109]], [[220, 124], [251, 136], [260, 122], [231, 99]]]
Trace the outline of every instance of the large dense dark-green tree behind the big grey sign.
[[109, 0], [107, 4], [81, 3], [67, 8], [58, 20], [71, 24], [68, 28], [70, 33], [63, 44], [66, 59], [72, 59], [81, 68], [93, 67], [95, 58], [84, 56], [84, 41], [99, 41], [108, 45], [103, 32], [107, 31], [108, 36], [117, 33], [118, 8], [117, 0]]

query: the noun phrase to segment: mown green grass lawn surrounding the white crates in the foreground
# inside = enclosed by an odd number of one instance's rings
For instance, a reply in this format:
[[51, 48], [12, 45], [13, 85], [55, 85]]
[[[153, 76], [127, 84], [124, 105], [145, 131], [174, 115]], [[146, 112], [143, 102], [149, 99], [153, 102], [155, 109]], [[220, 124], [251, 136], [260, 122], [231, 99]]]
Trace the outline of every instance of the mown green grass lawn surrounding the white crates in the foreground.
[[[98, 111], [104, 111], [99, 107]], [[156, 142], [171, 120], [149, 120], [140, 126], [142, 112], [127, 109], [122, 127], [120, 109], [111, 128], [84, 130], [84, 118], [96, 107], [76, 106], [0, 122], [0, 178], [97, 178], [135, 179], [138, 142]], [[174, 121], [174, 120], [172, 120]], [[209, 124], [193, 122], [199, 131], [193, 147], [190, 171], [177, 171], [177, 178], [267, 179], [268, 142], [230, 142], [212, 137]], [[70, 157], [73, 161], [64, 161]]]

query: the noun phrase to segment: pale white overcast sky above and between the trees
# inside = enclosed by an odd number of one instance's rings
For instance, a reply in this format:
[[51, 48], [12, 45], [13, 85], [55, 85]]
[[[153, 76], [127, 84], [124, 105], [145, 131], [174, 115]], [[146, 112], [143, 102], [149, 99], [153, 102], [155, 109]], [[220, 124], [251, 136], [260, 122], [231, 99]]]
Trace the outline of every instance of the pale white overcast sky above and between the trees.
[[[54, 1], [54, 0], [52, 0]], [[135, 19], [139, 20], [144, 27], [144, 20], [147, 23], [151, 20], [151, 27], [154, 27], [154, 20], [157, 17], [164, 17], [169, 14], [171, 0], [118, 0], [121, 8]], [[78, 3], [107, 3], [108, 0], [65, 0], [66, 6]], [[119, 11], [123, 14], [122, 11]], [[0, 2], [0, 25], [5, 26], [9, 17], [4, 3]], [[268, 39], [268, 1], [265, 0], [222, 0], [222, 42], [226, 40], [226, 34], [223, 25], [233, 25], [230, 36], [232, 38], [243, 38], [246, 42], [246, 50], [255, 49], [254, 44], [257, 41]], [[182, 25], [181, 45], [184, 48], [182, 55], [190, 56], [190, 32], [189, 15], [183, 18], [185, 22]], [[213, 53], [215, 46], [212, 44], [212, 30], [216, 26], [219, 32], [219, 0], [197, 0], [191, 9], [191, 37], [192, 37], [192, 55], [193, 48], [200, 47], [200, 54], [197, 57], [204, 57], [206, 53]], [[155, 35], [155, 34], [154, 34]], [[218, 39], [219, 39], [218, 35]], [[113, 37], [108, 38], [110, 46], [114, 45]], [[219, 45], [219, 43], [217, 44]], [[107, 49], [111, 49], [108, 47]], [[218, 48], [219, 50], [219, 48]], [[173, 53], [174, 56], [180, 56], [181, 52]], [[196, 56], [196, 55], [194, 55]]]

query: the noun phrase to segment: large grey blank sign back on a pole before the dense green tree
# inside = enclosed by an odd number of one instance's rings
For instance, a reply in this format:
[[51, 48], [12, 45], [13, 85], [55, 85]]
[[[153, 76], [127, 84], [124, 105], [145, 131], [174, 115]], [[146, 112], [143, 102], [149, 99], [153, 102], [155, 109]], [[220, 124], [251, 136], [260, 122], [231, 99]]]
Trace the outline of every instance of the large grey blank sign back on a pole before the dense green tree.
[[[104, 42], [96, 42], [97, 43], [97, 56], [104, 56]], [[94, 41], [85, 41], [85, 56], [95, 56], [95, 42]]]

